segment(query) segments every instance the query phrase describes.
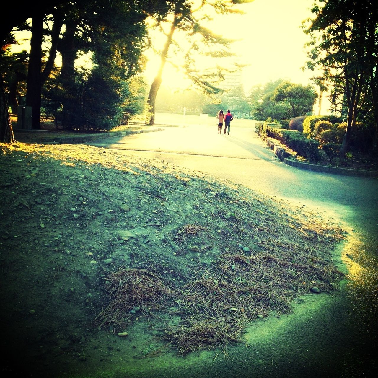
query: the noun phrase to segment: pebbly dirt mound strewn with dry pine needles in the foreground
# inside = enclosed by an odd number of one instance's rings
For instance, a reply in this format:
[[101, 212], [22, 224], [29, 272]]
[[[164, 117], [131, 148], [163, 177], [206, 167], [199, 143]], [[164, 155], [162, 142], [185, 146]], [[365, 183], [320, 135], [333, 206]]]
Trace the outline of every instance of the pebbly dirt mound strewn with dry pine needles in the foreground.
[[39, 376], [98, 372], [109, 355], [167, 346], [227, 355], [251, 322], [290, 313], [314, 287], [338, 288], [342, 236], [320, 214], [117, 151], [1, 148], [10, 375], [20, 355]]

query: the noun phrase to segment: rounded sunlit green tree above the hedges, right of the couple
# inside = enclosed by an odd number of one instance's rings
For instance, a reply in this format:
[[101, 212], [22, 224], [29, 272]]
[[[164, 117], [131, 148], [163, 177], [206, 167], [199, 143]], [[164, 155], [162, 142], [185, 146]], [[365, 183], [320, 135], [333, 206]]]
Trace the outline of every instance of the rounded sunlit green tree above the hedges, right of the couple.
[[287, 102], [290, 104], [292, 112], [290, 118], [294, 118], [311, 112], [317, 96], [311, 85], [304, 87], [301, 84], [285, 81], [276, 87], [271, 99], [276, 103]]

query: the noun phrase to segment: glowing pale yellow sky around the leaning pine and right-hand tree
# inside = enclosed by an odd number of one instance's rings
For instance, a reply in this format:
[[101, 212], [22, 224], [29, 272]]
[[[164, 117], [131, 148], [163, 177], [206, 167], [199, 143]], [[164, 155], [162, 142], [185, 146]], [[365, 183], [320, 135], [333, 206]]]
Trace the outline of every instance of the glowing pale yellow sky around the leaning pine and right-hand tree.
[[[310, 8], [314, 0], [255, 0], [239, 7], [246, 14], [228, 16], [226, 22], [217, 20], [213, 31], [234, 42], [232, 51], [249, 66], [243, 70], [245, 92], [256, 84], [279, 78], [296, 84], [308, 84], [313, 73], [302, 72], [307, 61], [304, 44], [308, 36], [301, 29], [302, 20], [313, 17]], [[152, 82], [158, 60], [151, 59], [146, 77]], [[186, 87], [181, 74], [166, 65], [163, 83], [172, 88]]]

